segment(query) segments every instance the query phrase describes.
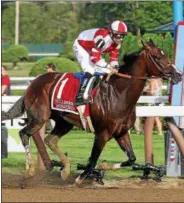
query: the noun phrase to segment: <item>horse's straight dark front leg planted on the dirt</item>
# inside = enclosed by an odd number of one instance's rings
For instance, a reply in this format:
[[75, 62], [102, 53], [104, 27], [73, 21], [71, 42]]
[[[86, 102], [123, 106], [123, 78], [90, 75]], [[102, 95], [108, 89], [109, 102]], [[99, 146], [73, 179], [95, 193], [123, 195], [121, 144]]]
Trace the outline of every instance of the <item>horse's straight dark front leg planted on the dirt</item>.
[[94, 144], [91, 151], [91, 156], [88, 160], [85, 171], [76, 179], [75, 183], [81, 185], [83, 180], [93, 171], [98, 161], [98, 158], [109, 140], [108, 133], [95, 134]]

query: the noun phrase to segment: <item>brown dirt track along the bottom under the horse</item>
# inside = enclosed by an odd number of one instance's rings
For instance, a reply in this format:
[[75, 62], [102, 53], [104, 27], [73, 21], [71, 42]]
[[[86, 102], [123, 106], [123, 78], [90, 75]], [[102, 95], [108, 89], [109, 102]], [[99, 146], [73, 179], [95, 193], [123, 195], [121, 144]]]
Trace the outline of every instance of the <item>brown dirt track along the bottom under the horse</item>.
[[24, 182], [20, 174], [2, 174], [3, 202], [184, 202], [184, 180], [163, 179], [156, 183], [139, 178], [105, 180], [105, 185], [73, 184], [56, 173], [40, 173]]

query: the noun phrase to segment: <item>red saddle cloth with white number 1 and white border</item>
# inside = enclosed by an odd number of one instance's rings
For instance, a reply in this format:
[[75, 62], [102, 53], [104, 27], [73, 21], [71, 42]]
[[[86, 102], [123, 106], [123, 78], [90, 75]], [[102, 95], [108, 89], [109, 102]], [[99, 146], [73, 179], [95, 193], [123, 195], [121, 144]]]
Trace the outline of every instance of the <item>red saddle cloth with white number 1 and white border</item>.
[[[74, 106], [75, 97], [80, 85], [79, 79], [74, 77], [73, 73], [64, 73], [54, 87], [51, 108], [58, 111], [79, 114]], [[95, 96], [96, 88], [91, 91], [91, 96]], [[89, 116], [89, 104], [86, 104], [84, 116]]]

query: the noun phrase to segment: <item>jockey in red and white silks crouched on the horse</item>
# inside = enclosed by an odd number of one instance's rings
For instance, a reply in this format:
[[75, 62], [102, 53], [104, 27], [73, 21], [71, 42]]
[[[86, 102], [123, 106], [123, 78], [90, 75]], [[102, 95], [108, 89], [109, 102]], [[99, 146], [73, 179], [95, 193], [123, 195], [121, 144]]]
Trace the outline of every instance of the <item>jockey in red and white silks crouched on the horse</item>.
[[[95, 72], [103, 75], [118, 71], [118, 54], [126, 34], [127, 26], [119, 20], [112, 22], [107, 29], [90, 29], [79, 34], [73, 50], [84, 72], [84, 77], [75, 100], [76, 106], [90, 102], [87, 89], [91, 89], [90, 79]], [[102, 54], [106, 53], [109, 54], [109, 64], [102, 58]], [[86, 92], [87, 95], [84, 96]]]

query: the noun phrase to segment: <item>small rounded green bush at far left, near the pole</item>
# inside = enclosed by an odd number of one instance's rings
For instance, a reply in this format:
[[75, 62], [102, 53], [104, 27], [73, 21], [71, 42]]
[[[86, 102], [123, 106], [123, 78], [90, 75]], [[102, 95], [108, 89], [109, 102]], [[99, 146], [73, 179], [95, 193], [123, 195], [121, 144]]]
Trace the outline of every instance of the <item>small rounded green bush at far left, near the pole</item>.
[[19, 62], [28, 59], [28, 49], [23, 45], [12, 45], [2, 52], [3, 62]]

